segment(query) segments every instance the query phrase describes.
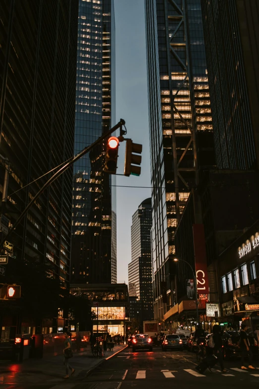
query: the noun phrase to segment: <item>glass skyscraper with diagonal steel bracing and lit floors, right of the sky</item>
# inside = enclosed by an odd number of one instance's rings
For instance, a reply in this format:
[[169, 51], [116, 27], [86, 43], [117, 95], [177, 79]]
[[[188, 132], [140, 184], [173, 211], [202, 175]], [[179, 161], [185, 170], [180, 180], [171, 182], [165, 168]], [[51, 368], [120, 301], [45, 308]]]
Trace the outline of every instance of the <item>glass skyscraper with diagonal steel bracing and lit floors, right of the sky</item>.
[[158, 318], [172, 305], [177, 224], [200, 171], [214, 165], [213, 129], [200, 0], [145, 0], [145, 16]]

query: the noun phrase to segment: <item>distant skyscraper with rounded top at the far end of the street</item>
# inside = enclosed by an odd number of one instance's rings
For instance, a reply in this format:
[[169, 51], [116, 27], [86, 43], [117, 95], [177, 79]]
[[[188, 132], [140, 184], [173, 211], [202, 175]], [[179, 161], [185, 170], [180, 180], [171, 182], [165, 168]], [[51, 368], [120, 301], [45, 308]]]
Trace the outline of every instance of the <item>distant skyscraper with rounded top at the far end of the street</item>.
[[151, 198], [144, 200], [132, 216], [131, 262], [129, 263], [129, 296], [141, 302], [141, 320], [151, 320], [153, 286], [151, 263], [152, 206]]

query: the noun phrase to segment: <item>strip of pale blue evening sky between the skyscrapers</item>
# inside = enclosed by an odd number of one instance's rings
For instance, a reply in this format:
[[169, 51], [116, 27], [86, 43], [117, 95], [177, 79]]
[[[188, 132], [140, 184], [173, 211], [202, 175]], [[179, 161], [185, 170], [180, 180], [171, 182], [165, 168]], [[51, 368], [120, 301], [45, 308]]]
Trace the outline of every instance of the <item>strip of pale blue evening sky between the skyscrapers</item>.
[[[144, 0], [114, 0], [116, 23], [116, 118], [126, 121], [127, 137], [143, 145], [141, 175], [117, 176], [117, 185], [150, 187]], [[125, 144], [119, 149], [123, 173]], [[130, 226], [151, 189], [117, 187], [117, 280], [128, 283]]]

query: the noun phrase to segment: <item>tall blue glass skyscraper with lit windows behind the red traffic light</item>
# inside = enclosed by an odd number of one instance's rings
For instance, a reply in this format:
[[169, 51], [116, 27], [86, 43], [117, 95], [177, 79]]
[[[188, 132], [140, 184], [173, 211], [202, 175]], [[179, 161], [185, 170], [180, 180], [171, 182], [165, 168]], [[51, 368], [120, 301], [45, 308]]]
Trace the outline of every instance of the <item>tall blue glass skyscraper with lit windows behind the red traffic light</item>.
[[[113, 0], [79, 0], [75, 154], [107, 132], [115, 116]], [[72, 279], [116, 283], [116, 212], [105, 144], [74, 164]]]

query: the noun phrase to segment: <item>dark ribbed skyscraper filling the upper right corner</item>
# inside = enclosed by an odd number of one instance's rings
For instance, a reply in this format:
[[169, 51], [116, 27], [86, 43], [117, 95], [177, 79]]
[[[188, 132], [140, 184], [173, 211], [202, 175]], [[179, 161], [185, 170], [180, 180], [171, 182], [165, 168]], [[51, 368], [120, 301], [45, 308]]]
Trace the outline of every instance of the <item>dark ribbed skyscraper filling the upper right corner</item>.
[[259, 167], [259, 8], [253, 0], [201, 0], [220, 169]]

